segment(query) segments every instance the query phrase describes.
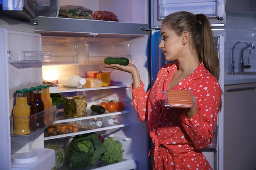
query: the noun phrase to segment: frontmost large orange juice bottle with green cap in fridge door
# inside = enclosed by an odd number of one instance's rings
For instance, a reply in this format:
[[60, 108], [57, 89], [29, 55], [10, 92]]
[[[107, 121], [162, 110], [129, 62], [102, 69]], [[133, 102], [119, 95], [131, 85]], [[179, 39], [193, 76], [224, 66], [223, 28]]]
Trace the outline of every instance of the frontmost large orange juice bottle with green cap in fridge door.
[[14, 135], [28, 135], [30, 108], [27, 101], [27, 90], [16, 91], [16, 104], [13, 108]]

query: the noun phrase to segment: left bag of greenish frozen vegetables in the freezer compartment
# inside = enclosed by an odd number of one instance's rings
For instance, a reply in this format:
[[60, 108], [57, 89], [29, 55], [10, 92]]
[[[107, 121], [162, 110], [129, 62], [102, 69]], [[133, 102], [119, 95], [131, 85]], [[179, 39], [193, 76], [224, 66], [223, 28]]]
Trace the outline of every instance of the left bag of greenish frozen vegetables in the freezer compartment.
[[83, 6], [61, 6], [58, 17], [93, 20], [93, 11]]

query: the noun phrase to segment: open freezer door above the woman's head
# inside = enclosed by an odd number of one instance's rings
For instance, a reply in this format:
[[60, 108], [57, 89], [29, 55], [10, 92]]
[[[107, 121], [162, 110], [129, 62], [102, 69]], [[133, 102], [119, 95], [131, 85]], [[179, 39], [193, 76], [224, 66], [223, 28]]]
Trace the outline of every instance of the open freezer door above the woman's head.
[[161, 26], [166, 16], [177, 11], [205, 14], [212, 26], [225, 23], [225, 0], [151, 0], [151, 27]]

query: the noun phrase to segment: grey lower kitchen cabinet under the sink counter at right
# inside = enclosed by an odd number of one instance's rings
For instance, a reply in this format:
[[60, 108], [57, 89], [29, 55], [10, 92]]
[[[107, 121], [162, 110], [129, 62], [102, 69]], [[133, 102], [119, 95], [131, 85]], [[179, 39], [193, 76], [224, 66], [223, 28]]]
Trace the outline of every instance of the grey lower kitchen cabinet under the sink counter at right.
[[224, 86], [224, 170], [256, 169], [256, 83]]

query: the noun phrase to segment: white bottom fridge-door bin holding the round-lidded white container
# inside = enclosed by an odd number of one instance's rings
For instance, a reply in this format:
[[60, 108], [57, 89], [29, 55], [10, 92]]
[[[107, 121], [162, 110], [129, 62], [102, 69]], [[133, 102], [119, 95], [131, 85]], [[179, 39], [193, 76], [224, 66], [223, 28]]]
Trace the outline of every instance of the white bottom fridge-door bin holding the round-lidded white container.
[[32, 152], [39, 155], [39, 159], [32, 163], [12, 163], [12, 170], [51, 170], [55, 167], [55, 151], [52, 149], [33, 149]]

